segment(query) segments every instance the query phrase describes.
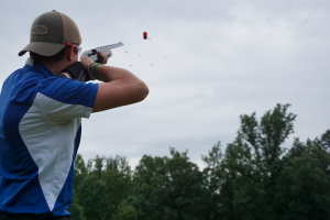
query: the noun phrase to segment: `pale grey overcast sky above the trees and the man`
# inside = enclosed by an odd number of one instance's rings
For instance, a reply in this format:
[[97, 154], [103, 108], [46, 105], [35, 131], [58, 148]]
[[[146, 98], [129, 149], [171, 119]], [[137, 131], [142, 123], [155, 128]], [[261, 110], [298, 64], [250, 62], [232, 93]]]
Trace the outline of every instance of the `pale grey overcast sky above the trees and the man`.
[[[82, 120], [79, 153], [127, 156], [188, 150], [201, 154], [234, 141], [240, 116], [260, 119], [276, 103], [298, 114], [294, 138], [330, 129], [329, 1], [3, 1], [0, 0], [0, 84], [24, 65], [40, 14], [57, 10], [80, 30], [82, 51], [124, 43], [109, 65], [150, 88], [136, 105]], [[147, 32], [150, 40], [143, 40]]]

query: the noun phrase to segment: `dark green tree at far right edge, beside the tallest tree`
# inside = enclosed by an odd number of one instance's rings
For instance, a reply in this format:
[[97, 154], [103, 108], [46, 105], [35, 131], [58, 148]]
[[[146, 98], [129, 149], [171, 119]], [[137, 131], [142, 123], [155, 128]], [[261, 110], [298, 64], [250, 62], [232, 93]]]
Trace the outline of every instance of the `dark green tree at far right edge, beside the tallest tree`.
[[328, 133], [321, 141], [308, 139], [306, 144], [295, 139], [278, 180], [275, 205], [282, 219], [330, 219], [330, 155], [324, 144]]

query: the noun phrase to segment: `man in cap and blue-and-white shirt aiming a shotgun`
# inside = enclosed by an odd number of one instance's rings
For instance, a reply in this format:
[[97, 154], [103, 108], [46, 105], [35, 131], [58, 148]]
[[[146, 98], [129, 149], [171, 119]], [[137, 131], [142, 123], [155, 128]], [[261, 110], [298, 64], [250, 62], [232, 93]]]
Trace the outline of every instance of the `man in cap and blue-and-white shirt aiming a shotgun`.
[[[31, 26], [26, 65], [11, 74], [0, 95], [0, 220], [68, 219], [74, 161], [81, 118], [142, 101], [146, 85], [132, 73], [81, 56], [85, 84], [58, 78], [78, 61], [81, 38], [76, 23], [51, 11]], [[102, 63], [107, 56], [101, 54]], [[95, 128], [98, 132], [97, 128]]]

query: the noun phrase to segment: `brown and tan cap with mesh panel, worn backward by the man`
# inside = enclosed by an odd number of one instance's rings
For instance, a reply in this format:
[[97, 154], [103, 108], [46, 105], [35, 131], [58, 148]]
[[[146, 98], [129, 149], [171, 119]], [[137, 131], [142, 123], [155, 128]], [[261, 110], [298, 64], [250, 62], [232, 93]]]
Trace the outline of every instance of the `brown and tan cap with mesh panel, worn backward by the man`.
[[70, 18], [53, 10], [34, 20], [30, 44], [19, 53], [19, 56], [26, 52], [53, 56], [65, 47], [65, 43], [81, 44], [79, 29]]

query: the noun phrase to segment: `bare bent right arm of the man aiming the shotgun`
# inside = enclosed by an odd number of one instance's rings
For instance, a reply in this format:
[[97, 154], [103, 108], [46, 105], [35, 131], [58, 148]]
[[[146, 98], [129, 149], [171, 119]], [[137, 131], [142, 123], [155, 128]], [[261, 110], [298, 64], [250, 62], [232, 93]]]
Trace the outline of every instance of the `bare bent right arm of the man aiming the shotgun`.
[[[92, 61], [87, 56], [80, 58], [87, 69]], [[100, 80], [105, 82], [99, 84], [92, 112], [135, 103], [145, 99], [148, 94], [147, 86], [127, 69], [98, 65], [96, 70]]]

